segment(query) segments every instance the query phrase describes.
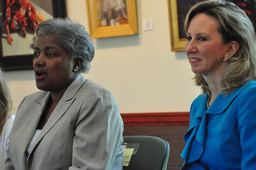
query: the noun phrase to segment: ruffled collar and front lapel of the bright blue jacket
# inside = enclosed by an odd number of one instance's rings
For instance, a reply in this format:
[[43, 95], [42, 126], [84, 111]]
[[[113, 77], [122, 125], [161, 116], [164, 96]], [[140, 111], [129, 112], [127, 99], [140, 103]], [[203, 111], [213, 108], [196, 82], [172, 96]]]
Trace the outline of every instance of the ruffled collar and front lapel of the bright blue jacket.
[[208, 96], [202, 96], [201, 99], [195, 104], [192, 112], [195, 112], [193, 121], [190, 122], [190, 128], [185, 134], [186, 145], [181, 153], [181, 157], [185, 160], [181, 170], [186, 169], [186, 165], [190, 162], [198, 160], [204, 151], [204, 141], [207, 129], [207, 114], [220, 114], [232, 103], [232, 101], [245, 89], [246, 87], [256, 84], [255, 81], [249, 81], [244, 86], [238, 88], [232, 94], [224, 97], [219, 94], [211, 107], [206, 108]]

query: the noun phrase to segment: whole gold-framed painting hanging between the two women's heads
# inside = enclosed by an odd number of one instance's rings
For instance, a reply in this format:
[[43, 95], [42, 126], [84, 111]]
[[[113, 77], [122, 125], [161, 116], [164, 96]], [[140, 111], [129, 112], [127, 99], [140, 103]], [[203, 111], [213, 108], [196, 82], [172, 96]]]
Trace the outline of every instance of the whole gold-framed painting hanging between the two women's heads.
[[135, 0], [87, 0], [87, 13], [92, 38], [138, 33]]

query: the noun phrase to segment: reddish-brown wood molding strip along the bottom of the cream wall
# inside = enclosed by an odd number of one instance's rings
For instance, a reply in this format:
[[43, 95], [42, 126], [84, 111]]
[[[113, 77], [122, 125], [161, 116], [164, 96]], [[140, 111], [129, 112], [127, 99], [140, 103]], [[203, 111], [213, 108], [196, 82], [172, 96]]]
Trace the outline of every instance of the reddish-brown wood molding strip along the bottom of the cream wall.
[[189, 112], [121, 113], [124, 126], [189, 125]]

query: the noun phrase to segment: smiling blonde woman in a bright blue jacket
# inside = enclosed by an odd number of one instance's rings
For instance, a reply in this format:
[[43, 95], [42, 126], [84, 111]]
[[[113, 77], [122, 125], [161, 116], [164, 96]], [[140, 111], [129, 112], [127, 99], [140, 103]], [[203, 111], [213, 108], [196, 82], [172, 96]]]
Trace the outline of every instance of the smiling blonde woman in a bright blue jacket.
[[253, 24], [234, 3], [206, 0], [188, 11], [185, 32], [185, 51], [203, 93], [191, 105], [181, 170], [255, 169]]

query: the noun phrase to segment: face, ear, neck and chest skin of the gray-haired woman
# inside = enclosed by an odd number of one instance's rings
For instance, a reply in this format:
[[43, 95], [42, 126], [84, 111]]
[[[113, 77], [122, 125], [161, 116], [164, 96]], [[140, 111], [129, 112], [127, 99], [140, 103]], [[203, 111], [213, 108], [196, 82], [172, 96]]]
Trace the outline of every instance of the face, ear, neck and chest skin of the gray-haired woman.
[[[44, 114], [48, 117], [58, 105], [68, 86], [80, 74], [81, 60], [71, 60], [68, 53], [56, 44], [51, 34], [40, 36], [34, 47], [33, 68], [38, 89], [50, 92], [50, 99]], [[42, 115], [37, 130], [42, 130], [47, 119]]]

